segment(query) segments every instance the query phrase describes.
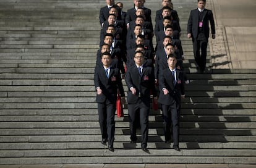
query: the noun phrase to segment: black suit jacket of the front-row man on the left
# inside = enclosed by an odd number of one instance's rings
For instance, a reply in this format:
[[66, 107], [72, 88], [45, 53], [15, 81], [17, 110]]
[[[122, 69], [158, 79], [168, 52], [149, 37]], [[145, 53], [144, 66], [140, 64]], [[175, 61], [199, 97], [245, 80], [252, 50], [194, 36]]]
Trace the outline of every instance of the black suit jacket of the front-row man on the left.
[[122, 97], [124, 97], [124, 88], [119, 69], [111, 67], [109, 78], [106, 77], [105, 69], [100, 65], [96, 65], [94, 73], [95, 88], [100, 87], [102, 94], [96, 94], [96, 102], [104, 103], [108, 99], [111, 103], [116, 103], [117, 88]]

